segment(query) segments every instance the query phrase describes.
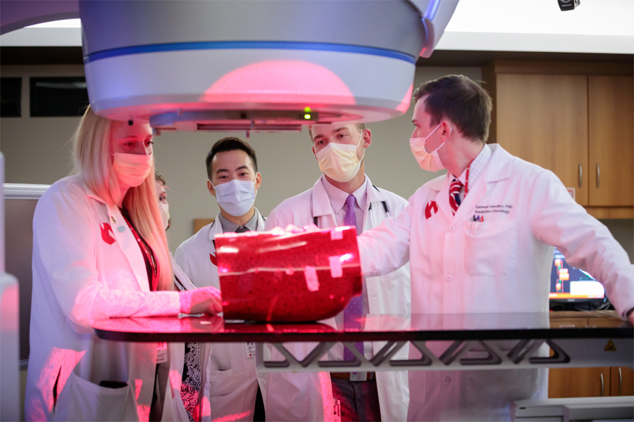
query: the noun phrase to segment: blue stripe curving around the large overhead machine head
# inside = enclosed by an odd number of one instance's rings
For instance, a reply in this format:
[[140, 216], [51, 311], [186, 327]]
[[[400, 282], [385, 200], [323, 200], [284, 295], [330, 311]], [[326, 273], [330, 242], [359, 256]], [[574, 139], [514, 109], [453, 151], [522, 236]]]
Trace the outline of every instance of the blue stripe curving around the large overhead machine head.
[[84, 64], [116, 56], [128, 56], [142, 53], [158, 53], [162, 51], [184, 50], [222, 50], [222, 49], [285, 49], [285, 50], [318, 50], [318, 51], [342, 51], [345, 53], [361, 53], [373, 56], [382, 56], [404, 60], [408, 63], [416, 63], [416, 58], [399, 51], [377, 49], [374, 47], [353, 46], [347, 44], [327, 44], [313, 42], [287, 42], [287, 41], [201, 41], [181, 42], [174, 44], [152, 44], [147, 46], [122, 47], [99, 51], [84, 57]]

